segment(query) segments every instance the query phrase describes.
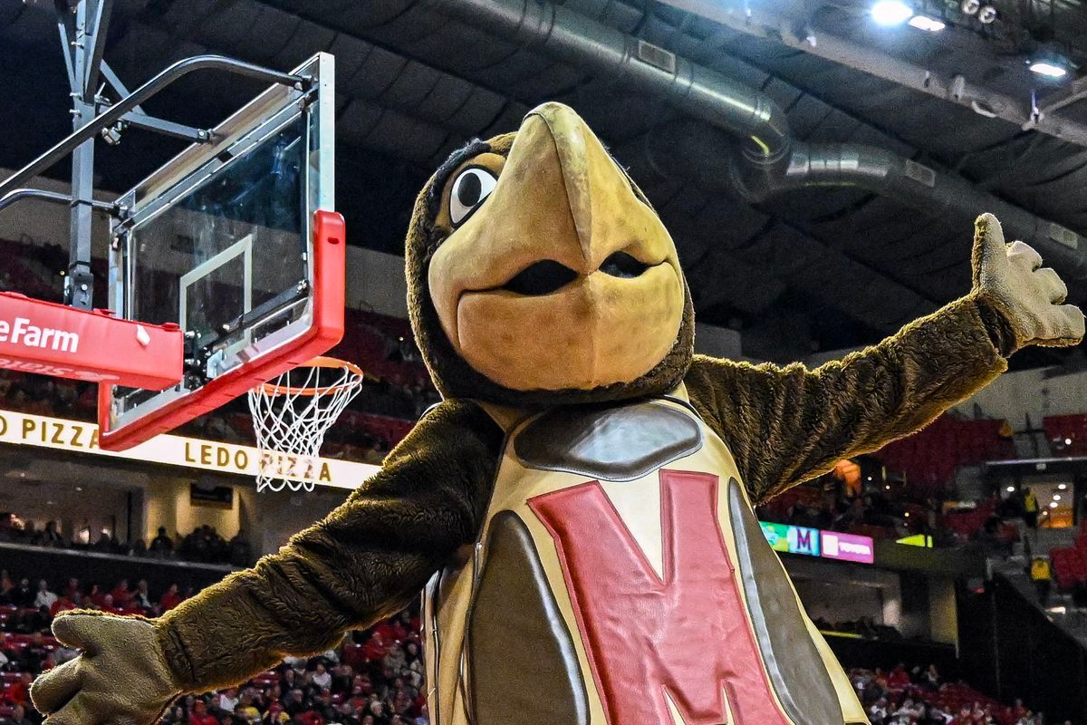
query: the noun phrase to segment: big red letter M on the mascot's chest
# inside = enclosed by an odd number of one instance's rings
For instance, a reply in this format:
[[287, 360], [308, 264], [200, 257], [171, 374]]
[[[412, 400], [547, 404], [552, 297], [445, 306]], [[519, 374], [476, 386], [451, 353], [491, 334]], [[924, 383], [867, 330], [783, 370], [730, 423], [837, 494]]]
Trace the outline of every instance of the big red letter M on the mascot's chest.
[[608, 722], [667, 725], [671, 700], [685, 725], [788, 725], [722, 539], [717, 477], [660, 476], [663, 580], [599, 483], [529, 501], [558, 547]]

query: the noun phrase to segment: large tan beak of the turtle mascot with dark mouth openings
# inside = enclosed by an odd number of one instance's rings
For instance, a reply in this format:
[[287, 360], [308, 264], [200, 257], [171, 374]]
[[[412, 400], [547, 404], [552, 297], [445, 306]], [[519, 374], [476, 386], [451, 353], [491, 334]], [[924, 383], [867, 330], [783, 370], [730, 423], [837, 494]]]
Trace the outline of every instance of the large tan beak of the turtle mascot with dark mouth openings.
[[597, 136], [546, 103], [492, 171], [493, 190], [428, 273], [458, 353], [515, 390], [590, 389], [651, 370], [683, 316], [675, 245]]

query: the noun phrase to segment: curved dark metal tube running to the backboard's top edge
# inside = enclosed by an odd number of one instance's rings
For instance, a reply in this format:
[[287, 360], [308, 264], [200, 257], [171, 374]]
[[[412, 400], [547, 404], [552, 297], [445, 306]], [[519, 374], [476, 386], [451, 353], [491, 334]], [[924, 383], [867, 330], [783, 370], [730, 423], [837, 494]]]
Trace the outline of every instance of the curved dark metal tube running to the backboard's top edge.
[[236, 61], [224, 55], [193, 55], [192, 58], [186, 58], [185, 60], [177, 61], [170, 67], [159, 73], [159, 75], [154, 76], [134, 90], [129, 96], [111, 105], [109, 110], [103, 111], [99, 115], [95, 116], [95, 118], [87, 122], [87, 124], [74, 130], [63, 141], [9, 176], [2, 184], [0, 184], [0, 198], [4, 197], [12, 189], [34, 178], [41, 172], [50, 168], [61, 159], [75, 151], [80, 143], [93, 138], [93, 136], [103, 128], [109, 128], [113, 124], [117, 123], [121, 121], [122, 116], [134, 110], [136, 107], [145, 103], [149, 98], [152, 98], [163, 88], [195, 71], [226, 71], [228, 73], [249, 76], [251, 78], [266, 80], [268, 83], [277, 83], [285, 86], [297, 86], [301, 89], [304, 89], [305, 84], [308, 83], [305, 78], [293, 76], [289, 73], [280, 73], [279, 71], [261, 67], [260, 65], [253, 65], [252, 63]]

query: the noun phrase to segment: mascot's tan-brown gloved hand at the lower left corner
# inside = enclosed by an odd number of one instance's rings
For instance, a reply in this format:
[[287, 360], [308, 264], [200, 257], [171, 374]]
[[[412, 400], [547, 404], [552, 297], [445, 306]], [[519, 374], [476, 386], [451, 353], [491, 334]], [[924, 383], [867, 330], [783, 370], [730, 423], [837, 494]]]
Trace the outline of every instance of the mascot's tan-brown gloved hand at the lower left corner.
[[148, 620], [65, 614], [53, 621], [53, 635], [83, 653], [30, 687], [45, 725], [149, 725], [182, 692]]

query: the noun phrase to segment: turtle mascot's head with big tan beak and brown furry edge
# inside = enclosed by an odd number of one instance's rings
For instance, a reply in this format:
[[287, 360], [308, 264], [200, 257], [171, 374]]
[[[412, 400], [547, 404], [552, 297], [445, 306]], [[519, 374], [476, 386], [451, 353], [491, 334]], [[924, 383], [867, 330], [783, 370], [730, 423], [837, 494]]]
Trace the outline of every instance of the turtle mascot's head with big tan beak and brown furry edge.
[[666, 392], [690, 364], [672, 237], [560, 103], [454, 152], [418, 196], [405, 255], [412, 327], [446, 397], [617, 400]]

